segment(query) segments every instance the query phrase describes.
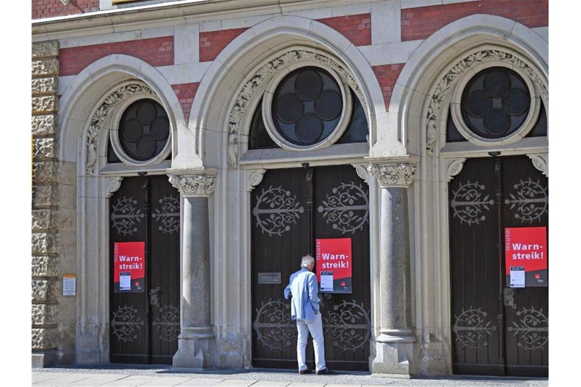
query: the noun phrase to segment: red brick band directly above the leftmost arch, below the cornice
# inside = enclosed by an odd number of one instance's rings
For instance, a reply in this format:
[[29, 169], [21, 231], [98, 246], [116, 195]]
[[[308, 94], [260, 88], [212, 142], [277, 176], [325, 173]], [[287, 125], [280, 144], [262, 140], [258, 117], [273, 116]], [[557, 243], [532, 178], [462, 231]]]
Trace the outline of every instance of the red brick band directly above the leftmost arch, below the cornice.
[[60, 75], [75, 75], [83, 68], [110, 54], [138, 57], [152, 66], [174, 64], [174, 37], [139, 39], [60, 49]]

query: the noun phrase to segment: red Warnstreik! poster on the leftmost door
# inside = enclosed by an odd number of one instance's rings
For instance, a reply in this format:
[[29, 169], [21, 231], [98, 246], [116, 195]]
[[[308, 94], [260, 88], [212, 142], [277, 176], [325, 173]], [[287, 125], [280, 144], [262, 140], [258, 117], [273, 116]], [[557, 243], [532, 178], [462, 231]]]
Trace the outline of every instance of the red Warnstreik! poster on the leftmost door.
[[113, 283], [116, 293], [142, 293], [145, 290], [145, 242], [115, 242]]

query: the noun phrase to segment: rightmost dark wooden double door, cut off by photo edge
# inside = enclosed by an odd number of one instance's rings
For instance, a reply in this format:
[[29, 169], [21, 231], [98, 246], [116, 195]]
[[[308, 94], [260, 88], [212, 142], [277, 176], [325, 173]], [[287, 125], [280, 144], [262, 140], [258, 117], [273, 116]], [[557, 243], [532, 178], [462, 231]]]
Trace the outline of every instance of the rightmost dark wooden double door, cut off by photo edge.
[[472, 158], [449, 185], [453, 370], [548, 375], [548, 282], [511, 288], [507, 227], [547, 227], [548, 180], [526, 156]]

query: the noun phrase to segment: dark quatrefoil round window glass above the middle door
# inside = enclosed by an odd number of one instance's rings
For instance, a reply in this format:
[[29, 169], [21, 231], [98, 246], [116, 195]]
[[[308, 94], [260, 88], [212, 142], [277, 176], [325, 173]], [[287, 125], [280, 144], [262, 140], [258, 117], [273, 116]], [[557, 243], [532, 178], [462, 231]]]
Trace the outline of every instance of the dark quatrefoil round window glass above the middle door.
[[292, 71], [272, 97], [272, 121], [286, 140], [312, 145], [331, 135], [343, 111], [339, 85], [319, 67]]

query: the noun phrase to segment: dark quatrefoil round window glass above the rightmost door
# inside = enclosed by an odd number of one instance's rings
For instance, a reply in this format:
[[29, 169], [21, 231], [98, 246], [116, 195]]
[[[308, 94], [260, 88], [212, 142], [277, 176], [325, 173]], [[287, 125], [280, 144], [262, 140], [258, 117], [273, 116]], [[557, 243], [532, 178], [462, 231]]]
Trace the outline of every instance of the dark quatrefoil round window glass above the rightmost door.
[[462, 119], [483, 138], [498, 139], [516, 132], [529, 109], [529, 89], [522, 77], [509, 68], [480, 71], [462, 92]]

